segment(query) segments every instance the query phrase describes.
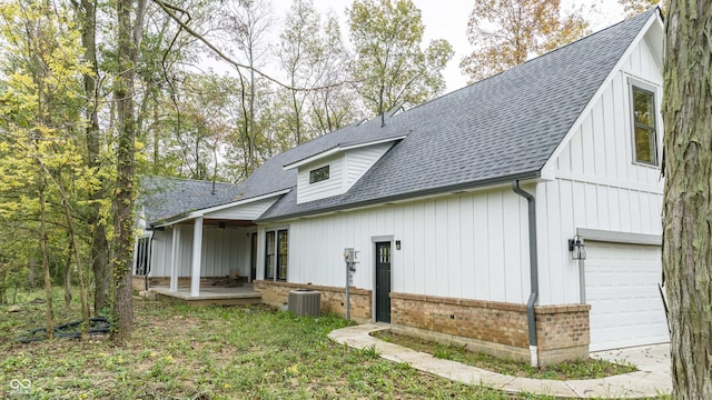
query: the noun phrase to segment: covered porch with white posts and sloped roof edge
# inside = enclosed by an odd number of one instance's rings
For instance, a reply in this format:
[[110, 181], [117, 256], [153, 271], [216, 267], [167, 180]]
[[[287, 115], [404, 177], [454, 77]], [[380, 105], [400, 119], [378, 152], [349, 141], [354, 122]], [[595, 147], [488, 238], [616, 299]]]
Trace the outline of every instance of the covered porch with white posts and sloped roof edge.
[[249, 284], [256, 279], [257, 266], [257, 226], [253, 221], [280, 194], [147, 223], [137, 242], [135, 274], [144, 274], [148, 287], [162, 297], [191, 301], [258, 298]]

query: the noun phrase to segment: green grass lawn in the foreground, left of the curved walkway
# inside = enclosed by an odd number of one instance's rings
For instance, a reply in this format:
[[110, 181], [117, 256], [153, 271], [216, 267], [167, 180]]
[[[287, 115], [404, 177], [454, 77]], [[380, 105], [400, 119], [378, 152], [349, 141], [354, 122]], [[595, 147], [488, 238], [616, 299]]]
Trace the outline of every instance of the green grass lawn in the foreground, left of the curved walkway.
[[[298, 318], [266, 307], [188, 308], [135, 298], [131, 340], [21, 344], [44, 306], [0, 306], [0, 398], [18, 399], [551, 399], [512, 396], [422, 373], [327, 338], [338, 316]], [[79, 319], [55, 299], [56, 323]], [[23, 383], [29, 388], [18, 387]], [[31, 383], [27, 384], [27, 383]], [[14, 384], [14, 389], [13, 389]]]

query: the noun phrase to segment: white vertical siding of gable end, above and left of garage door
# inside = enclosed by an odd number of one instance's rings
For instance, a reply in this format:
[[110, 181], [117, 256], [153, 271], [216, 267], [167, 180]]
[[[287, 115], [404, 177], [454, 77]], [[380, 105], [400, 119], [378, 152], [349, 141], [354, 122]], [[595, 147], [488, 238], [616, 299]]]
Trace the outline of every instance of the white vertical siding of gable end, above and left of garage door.
[[662, 73], [645, 41], [622, 66], [562, 149], [557, 179], [537, 184], [542, 304], [580, 299], [578, 271], [567, 250], [576, 228], [661, 234], [663, 183], [659, 167], [633, 161], [629, 78], [656, 88], [660, 153]]

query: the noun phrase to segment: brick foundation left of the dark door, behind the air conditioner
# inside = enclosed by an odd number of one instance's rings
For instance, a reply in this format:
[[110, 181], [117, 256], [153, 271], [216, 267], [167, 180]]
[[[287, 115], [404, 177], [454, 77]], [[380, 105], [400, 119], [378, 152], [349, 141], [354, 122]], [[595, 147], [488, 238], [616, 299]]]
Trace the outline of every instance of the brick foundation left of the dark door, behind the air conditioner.
[[[287, 303], [289, 291], [291, 290], [318, 290], [322, 293], [322, 311], [338, 314], [346, 313], [346, 307], [344, 306], [346, 294], [344, 288], [257, 280], [255, 281], [254, 289], [263, 294], [263, 302], [273, 307], [281, 307]], [[372, 291], [349, 288], [348, 292], [350, 297], [352, 319], [358, 322], [370, 322]]]

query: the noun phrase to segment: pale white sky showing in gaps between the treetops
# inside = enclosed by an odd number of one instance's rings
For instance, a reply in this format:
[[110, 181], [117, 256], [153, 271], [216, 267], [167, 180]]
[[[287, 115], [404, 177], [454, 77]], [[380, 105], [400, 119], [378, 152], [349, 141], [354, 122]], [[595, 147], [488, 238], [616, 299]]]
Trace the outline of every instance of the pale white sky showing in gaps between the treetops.
[[[342, 34], [348, 41], [348, 28], [346, 27], [345, 10], [350, 7], [353, 0], [313, 0], [314, 6], [320, 14], [333, 11], [342, 21]], [[447, 63], [444, 71], [447, 83], [446, 92], [459, 89], [467, 84], [459, 71], [459, 61], [472, 51], [472, 46], [467, 41], [467, 20], [475, 0], [413, 0], [415, 6], [422, 11], [423, 24], [425, 26], [425, 37], [423, 42], [428, 43], [433, 39], [447, 40], [455, 50], [455, 56]], [[274, 0], [273, 7], [275, 16], [284, 18], [291, 1]], [[616, 0], [563, 0], [562, 7], [597, 4], [597, 12], [590, 16], [593, 31], [612, 26], [624, 18], [623, 8]]]

